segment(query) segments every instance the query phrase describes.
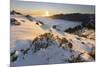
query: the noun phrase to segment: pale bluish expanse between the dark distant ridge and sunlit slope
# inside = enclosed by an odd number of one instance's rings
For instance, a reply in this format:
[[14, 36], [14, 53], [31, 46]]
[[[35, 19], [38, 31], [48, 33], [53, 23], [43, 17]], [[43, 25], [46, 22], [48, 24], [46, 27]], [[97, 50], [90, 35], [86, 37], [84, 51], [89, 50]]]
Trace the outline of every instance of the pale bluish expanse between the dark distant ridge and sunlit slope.
[[80, 25], [81, 22], [73, 22], [73, 21], [65, 21], [65, 20], [59, 20], [59, 19], [50, 19], [50, 18], [41, 18], [36, 17], [37, 20], [40, 20], [45, 23], [44, 26], [42, 26], [43, 29], [51, 28], [53, 25], [57, 25], [57, 29], [60, 31], [64, 31], [67, 28], [73, 28], [77, 25]]

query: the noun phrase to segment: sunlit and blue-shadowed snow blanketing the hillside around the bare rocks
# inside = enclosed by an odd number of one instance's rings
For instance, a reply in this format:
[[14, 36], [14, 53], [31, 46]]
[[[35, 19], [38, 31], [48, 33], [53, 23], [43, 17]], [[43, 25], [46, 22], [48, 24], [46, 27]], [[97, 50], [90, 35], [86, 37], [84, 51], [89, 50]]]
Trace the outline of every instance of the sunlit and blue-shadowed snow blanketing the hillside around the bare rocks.
[[[82, 54], [82, 58], [87, 61], [94, 61], [93, 58], [88, 55], [91, 49], [95, 47], [95, 41], [84, 37], [79, 37], [78, 35], [64, 33], [64, 30], [69, 27], [75, 27], [80, 25], [81, 22], [72, 22], [58, 19], [50, 18], [40, 18], [35, 17], [37, 20], [42, 21], [44, 25], [37, 25], [36, 20], [29, 21], [24, 16], [11, 16], [16, 18], [21, 25], [11, 26], [11, 53], [16, 51], [18, 59], [15, 62], [11, 62], [11, 66], [25, 66], [25, 65], [37, 65], [37, 64], [54, 64], [54, 63], [68, 63], [65, 61], [71, 59], [71, 56], [77, 56], [79, 53]], [[25, 22], [22, 22], [24, 20]], [[52, 26], [57, 25], [57, 29], [53, 29]], [[37, 52], [33, 52], [31, 47], [32, 41], [41, 34], [51, 32], [54, 36], [59, 36], [60, 38], [65, 37], [69, 42], [73, 44], [71, 52], [69, 49], [63, 49], [59, 47], [59, 42], [51, 44], [46, 49], [40, 49]], [[88, 31], [91, 32], [91, 31]], [[87, 33], [88, 33], [87, 32]], [[93, 32], [92, 32], [93, 33]], [[93, 34], [91, 34], [92, 36]], [[90, 36], [90, 37], [91, 37]], [[77, 38], [80, 38], [78, 40]], [[45, 40], [44, 40], [45, 42]], [[84, 42], [81, 43], [81, 42]], [[20, 50], [27, 50], [30, 48], [27, 54], [23, 54]]]

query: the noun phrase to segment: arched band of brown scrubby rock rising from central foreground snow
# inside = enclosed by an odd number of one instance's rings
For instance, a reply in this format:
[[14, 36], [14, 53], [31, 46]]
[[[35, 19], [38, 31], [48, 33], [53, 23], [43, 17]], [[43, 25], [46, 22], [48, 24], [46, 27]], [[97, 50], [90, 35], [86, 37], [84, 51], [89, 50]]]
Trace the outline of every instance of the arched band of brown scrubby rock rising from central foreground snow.
[[35, 48], [34, 52], [40, 50], [41, 48], [46, 49], [51, 45], [57, 45], [63, 49], [69, 48], [70, 50], [73, 47], [72, 43], [69, 42], [66, 38], [60, 38], [59, 36], [55, 37], [52, 33], [45, 33], [39, 37], [36, 37], [33, 40], [32, 45]]

